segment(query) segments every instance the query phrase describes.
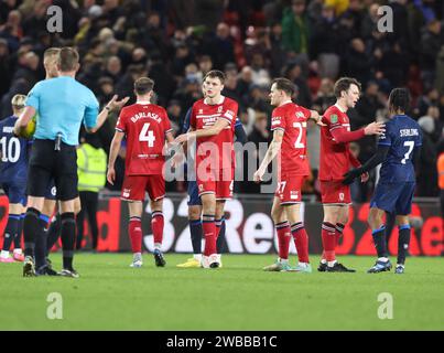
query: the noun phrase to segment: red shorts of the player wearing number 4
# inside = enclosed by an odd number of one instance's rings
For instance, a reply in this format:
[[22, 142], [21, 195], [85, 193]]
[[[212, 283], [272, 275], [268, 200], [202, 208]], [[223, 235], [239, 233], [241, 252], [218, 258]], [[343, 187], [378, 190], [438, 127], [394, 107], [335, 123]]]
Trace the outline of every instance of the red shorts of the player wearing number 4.
[[152, 201], [165, 196], [165, 180], [162, 174], [124, 175], [121, 197], [128, 201], [144, 201], [148, 192]]

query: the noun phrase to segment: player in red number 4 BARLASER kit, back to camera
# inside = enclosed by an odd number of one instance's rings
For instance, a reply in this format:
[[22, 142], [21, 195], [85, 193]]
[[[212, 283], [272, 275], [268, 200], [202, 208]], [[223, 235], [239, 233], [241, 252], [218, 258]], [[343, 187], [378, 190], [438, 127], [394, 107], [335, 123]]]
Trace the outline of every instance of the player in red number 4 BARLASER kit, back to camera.
[[120, 111], [111, 142], [107, 179], [113, 183], [115, 162], [123, 137], [127, 138], [127, 158], [121, 197], [128, 201], [129, 235], [133, 253], [131, 267], [142, 266], [142, 212], [145, 192], [150, 196], [151, 228], [154, 236], [155, 265], [165, 266], [161, 252], [163, 238], [163, 197], [165, 195], [165, 139], [173, 142], [173, 130], [164, 108], [151, 104], [154, 82], [141, 77], [134, 83], [137, 103]]

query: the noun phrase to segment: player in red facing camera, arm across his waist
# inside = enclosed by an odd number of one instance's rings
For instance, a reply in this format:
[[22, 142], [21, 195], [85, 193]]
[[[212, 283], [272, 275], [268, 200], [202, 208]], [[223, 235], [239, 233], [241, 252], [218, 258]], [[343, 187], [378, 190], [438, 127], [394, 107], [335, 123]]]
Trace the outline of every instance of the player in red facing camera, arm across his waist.
[[221, 95], [225, 74], [210, 71], [204, 77], [205, 98], [192, 108], [192, 131], [176, 138], [176, 142], [196, 139], [196, 181], [203, 204], [203, 232], [205, 249], [204, 268], [218, 268], [216, 223], [224, 216], [225, 201], [232, 197], [235, 175], [234, 129], [238, 104]]

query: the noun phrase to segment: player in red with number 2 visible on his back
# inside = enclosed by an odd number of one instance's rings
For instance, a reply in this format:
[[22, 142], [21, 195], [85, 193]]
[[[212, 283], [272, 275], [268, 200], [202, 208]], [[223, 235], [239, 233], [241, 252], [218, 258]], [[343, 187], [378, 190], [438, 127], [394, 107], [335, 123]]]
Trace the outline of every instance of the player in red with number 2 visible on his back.
[[[269, 163], [278, 156], [278, 188], [274, 194], [271, 216], [279, 240], [279, 258], [275, 264], [264, 270], [294, 270], [311, 272], [308, 261], [308, 236], [301, 217], [301, 189], [304, 179], [310, 174], [306, 156], [306, 124], [308, 119], [323, 125], [315, 110], [308, 110], [294, 104], [291, 97], [294, 84], [286, 78], [275, 78], [271, 85], [271, 105], [275, 106], [271, 118], [273, 140], [253, 175], [260, 182]], [[299, 264], [295, 268], [289, 265], [290, 239], [293, 236], [297, 249]]]

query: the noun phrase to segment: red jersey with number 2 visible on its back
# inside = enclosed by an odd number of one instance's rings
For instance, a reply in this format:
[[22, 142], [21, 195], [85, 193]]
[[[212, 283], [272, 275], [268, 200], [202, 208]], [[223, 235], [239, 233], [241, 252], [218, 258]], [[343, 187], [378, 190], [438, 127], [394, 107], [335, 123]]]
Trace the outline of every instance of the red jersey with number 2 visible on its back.
[[306, 156], [306, 120], [311, 111], [292, 101], [273, 110], [271, 130], [284, 131], [279, 165], [281, 173], [308, 175], [310, 165]]

